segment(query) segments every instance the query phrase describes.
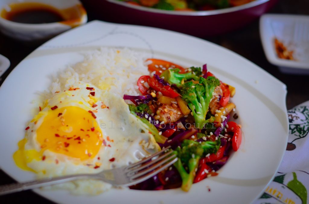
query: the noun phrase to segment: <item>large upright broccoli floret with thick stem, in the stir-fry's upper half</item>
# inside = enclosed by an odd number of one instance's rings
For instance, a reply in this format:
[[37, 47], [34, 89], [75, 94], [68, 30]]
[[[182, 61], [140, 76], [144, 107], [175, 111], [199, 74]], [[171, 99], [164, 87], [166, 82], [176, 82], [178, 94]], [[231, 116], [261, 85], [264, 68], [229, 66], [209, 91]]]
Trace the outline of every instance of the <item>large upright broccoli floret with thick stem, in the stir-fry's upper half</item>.
[[192, 81], [185, 82], [181, 88], [182, 99], [188, 102], [195, 121], [196, 128], [203, 128], [206, 123], [214, 122], [214, 117], [205, 120], [210, 100], [214, 89], [220, 85], [220, 81], [209, 76], [207, 79], [200, 77], [199, 84]]

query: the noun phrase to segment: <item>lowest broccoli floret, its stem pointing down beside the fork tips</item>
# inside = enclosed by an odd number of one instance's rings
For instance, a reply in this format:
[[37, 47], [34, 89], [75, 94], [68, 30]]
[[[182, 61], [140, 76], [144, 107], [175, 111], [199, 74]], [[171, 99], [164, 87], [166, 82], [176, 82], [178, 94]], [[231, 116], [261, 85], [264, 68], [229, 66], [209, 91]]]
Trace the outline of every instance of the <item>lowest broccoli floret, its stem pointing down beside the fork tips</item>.
[[[193, 140], [184, 140], [181, 147], [177, 147], [174, 153], [179, 159], [174, 163], [174, 166], [181, 176], [182, 190], [188, 191], [193, 184], [200, 158], [205, 157], [207, 154], [216, 153], [220, 145], [220, 140], [201, 143]], [[188, 168], [188, 171], [186, 168]]]

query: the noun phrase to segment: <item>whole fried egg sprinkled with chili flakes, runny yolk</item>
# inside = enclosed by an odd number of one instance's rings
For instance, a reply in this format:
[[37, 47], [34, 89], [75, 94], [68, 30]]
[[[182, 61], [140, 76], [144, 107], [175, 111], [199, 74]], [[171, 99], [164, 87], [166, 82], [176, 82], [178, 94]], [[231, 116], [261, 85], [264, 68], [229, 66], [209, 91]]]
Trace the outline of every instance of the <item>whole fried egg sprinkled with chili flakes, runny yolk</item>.
[[[98, 173], [134, 163], [158, 149], [154, 137], [119, 95], [78, 82], [44, 102], [13, 157], [21, 169], [42, 178]], [[111, 186], [80, 180], [57, 187], [97, 194]]]

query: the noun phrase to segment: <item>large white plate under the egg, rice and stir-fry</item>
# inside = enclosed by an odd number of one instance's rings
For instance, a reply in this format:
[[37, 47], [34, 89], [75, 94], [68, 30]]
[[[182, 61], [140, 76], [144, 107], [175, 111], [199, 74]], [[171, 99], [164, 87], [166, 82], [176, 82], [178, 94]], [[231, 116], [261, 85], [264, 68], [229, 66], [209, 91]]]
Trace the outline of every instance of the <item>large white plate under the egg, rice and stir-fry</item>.
[[[18, 182], [34, 175], [12, 159], [34, 107], [37, 91], [50, 85], [50, 75], [82, 60], [79, 53], [100, 46], [125, 46], [184, 66], [208, 63], [220, 80], [236, 87], [233, 102], [242, 124], [243, 142], [217, 177], [180, 189], [139, 191], [112, 189], [98, 196], [67, 191], [35, 190], [61, 203], [250, 203], [272, 180], [288, 137], [286, 86], [243, 57], [213, 43], [176, 32], [93, 21], [68, 31], [36, 49], [7, 77], [0, 88], [0, 167]], [[18, 82], [18, 83], [17, 83]], [[208, 192], [209, 186], [211, 191]]]

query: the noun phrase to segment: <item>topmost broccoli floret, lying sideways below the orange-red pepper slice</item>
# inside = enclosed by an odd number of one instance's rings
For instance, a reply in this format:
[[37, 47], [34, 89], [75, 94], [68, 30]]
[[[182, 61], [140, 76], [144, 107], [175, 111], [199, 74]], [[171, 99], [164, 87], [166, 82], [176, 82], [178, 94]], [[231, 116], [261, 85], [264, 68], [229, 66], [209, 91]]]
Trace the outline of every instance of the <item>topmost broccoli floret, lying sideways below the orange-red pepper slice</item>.
[[[198, 74], [201, 72], [201, 68], [195, 68], [195, 69]], [[164, 81], [166, 81], [169, 84], [175, 84], [176, 87], [180, 88], [187, 80], [193, 79], [198, 81], [201, 75], [201, 74], [200, 75], [193, 74], [193, 71], [180, 74], [179, 71], [180, 71], [179, 69], [167, 69], [160, 75], [160, 78], [164, 77]]]

